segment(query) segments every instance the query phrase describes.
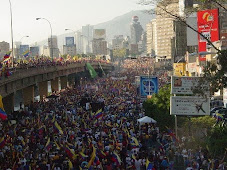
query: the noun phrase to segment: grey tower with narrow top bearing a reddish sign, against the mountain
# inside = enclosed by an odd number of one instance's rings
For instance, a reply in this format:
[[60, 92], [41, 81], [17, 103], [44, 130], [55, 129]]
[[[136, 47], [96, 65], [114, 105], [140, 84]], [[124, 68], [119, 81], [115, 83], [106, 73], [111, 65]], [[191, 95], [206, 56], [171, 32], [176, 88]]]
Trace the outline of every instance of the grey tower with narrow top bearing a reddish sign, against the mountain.
[[131, 30], [131, 44], [137, 44], [141, 40], [141, 36], [143, 33], [143, 28], [140, 25], [139, 17], [133, 16], [132, 17], [132, 23], [130, 26]]

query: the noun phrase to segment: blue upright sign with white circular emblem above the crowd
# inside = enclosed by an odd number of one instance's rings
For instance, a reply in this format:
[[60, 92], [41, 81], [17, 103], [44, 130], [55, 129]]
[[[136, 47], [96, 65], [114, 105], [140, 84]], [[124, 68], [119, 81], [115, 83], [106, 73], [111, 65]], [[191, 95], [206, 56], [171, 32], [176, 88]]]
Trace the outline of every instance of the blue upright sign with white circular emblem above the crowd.
[[140, 76], [140, 95], [147, 97], [153, 93], [158, 93], [158, 78], [149, 76]]

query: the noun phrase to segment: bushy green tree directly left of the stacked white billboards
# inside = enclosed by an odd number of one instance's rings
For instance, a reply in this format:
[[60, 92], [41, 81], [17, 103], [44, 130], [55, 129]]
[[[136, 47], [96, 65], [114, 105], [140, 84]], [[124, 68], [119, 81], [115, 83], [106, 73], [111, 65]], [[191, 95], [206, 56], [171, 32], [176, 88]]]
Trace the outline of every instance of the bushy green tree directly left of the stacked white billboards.
[[174, 127], [174, 117], [170, 115], [170, 85], [162, 87], [158, 94], [144, 102], [145, 114], [158, 122], [161, 130]]

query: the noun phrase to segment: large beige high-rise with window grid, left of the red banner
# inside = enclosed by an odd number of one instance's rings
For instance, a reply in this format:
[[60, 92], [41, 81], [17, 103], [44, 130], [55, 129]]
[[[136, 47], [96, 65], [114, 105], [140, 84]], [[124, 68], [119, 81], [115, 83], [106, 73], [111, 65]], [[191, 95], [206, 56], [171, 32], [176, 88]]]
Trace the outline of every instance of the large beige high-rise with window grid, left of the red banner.
[[[168, 5], [168, 11], [181, 15], [182, 0], [173, 1]], [[148, 24], [147, 53], [166, 59], [175, 60], [177, 56], [186, 53], [186, 26], [176, 21], [160, 8], [156, 8], [156, 19]]]

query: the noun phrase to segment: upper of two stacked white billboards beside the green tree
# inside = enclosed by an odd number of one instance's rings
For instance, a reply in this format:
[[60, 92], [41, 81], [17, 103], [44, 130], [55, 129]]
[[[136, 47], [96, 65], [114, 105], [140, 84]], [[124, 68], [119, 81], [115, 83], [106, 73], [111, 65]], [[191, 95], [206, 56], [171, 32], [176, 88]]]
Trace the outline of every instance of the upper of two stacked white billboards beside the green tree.
[[[201, 77], [171, 77], [171, 94], [193, 94], [193, 89], [198, 86]], [[209, 84], [203, 83], [201, 88], [209, 95]]]

